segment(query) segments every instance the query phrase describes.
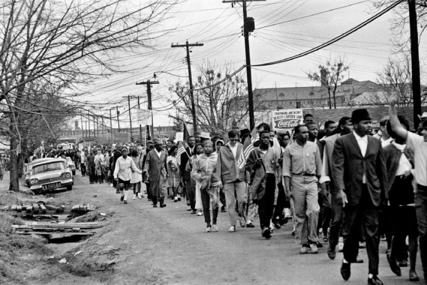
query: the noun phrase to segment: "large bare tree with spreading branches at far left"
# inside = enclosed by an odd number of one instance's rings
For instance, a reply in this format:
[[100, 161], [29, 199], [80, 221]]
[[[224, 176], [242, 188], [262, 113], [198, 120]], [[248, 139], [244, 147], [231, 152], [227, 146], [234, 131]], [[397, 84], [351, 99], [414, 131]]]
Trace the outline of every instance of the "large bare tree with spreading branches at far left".
[[[78, 94], [64, 89], [119, 71], [118, 52], [152, 48], [151, 41], [168, 32], [157, 27], [177, 1], [0, 0], [0, 104], [10, 115], [11, 189], [19, 189], [23, 118], [17, 114], [31, 111], [34, 82], [62, 91], [46, 93], [53, 99], [81, 104]], [[46, 112], [31, 111], [43, 121]]]

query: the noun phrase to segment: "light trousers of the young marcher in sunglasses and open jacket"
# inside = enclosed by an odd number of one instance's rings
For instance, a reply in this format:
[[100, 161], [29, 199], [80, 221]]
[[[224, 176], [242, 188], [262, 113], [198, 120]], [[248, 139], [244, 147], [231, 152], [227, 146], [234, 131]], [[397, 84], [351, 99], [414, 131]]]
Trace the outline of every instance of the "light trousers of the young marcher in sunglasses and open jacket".
[[225, 183], [223, 185], [223, 190], [225, 194], [225, 204], [227, 204], [228, 219], [230, 220], [230, 225], [236, 225], [238, 219], [235, 207], [236, 207], [236, 198], [238, 213], [245, 217], [245, 206], [247, 201], [246, 195], [246, 182], [244, 181], [234, 181], [230, 183]]

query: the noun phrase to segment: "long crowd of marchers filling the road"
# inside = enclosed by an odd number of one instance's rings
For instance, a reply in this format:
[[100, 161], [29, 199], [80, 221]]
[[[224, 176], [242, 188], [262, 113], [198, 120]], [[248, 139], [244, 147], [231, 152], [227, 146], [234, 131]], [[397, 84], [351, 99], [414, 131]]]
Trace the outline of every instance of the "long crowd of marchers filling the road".
[[368, 111], [357, 109], [337, 123], [327, 121], [322, 135], [306, 114], [292, 137], [262, 123], [256, 133], [233, 128], [227, 139], [201, 132], [184, 145], [154, 139], [146, 148], [118, 145], [77, 157], [90, 183], [111, 183], [125, 204], [130, 189], [133, 200], [146, 193], [153, 207], [183, 198], [191, 214], [204, 216], [206, 232], [218, 232], [219, 211], [227, 212], [230, 233], [237, 223], [254, 227], [258, 215], [265, 239], [291, 219], [301, 254], [318, 253], [321, 241], [330, 259], [343, 252], [344, 280], [352, 263], [363, 262], [358, 251], [366, 247], [368, 284], [383, 284], [384, 237], [391, 271], [401, 276], [409, 258], [409, 278], [418, 281], [418, 242], [427, 277], [427, 114], [411, 132], [397, 116], [398, 99], [391, 96], [377, 134]]

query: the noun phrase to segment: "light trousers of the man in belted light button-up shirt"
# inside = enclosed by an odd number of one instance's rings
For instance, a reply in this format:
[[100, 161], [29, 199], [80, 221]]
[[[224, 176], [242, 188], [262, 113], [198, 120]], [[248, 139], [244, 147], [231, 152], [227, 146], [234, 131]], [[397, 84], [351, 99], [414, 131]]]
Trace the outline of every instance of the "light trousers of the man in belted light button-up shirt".
[[292, 175], [290, 188], [295, 208], [296, 242], [305, 244], [317, 242], [317, 221], [319, 204], [317, 178], [315, 176]]

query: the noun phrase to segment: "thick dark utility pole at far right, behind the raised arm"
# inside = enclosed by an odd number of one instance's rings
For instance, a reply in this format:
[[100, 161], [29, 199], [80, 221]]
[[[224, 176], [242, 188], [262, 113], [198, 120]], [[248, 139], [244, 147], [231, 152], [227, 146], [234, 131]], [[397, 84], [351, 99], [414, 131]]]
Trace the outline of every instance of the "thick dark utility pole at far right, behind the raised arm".
[[417, 115], [421, 115], [421, 80], [419, 72], [418, 27], [415, 0], [409, 0], [409, 27], [411, 33], [412, 99], [414, 101], [414, 128], [419, 124]]

